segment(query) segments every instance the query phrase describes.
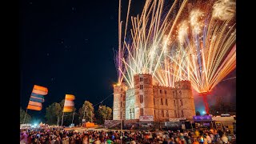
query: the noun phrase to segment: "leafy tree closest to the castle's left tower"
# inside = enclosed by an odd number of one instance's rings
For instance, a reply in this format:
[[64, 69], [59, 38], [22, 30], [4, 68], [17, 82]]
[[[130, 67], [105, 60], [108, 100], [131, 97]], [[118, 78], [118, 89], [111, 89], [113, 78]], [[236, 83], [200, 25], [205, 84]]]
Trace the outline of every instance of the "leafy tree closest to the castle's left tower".
[[97, 112], [97, 119], [100, 124], [103, 124], [105, 120], [112, 119], [112, 109], [108, 106], [100, 106]]

